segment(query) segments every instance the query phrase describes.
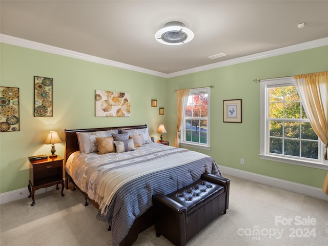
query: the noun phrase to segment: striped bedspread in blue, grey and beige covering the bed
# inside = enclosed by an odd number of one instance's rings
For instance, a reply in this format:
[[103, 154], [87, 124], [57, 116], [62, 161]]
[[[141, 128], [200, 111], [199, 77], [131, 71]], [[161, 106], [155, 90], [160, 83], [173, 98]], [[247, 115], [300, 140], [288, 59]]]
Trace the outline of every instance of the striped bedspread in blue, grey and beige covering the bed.
[[66, 162], [66, 171], [99, 204], [97, 218], [111, 226], [114, 246], [152, 206], [154, 194], [174, 192], [203, 173], [222, 176], [208, 155], [159, 144], [104, 155], [75, 152]]

